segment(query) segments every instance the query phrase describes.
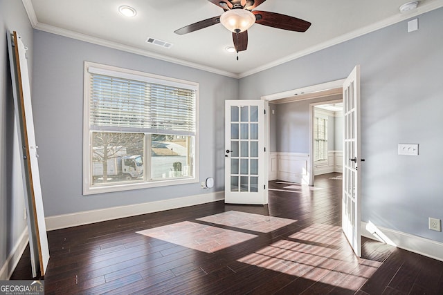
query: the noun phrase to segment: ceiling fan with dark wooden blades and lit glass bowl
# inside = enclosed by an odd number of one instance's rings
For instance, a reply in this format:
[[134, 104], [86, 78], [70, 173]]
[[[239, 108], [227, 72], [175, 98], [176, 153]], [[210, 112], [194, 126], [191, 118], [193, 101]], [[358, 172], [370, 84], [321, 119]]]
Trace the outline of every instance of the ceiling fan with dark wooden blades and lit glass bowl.
[[[305, 32], [311, 23], [289, 15], [280, 15], [280, 13], [253, 10], [266, 0], [208, 0], [211, 3], [223, 8], [224, 13], [218, 17], [204, 19], [197, 23], [192, 23], [174, 32], [178, 35], [188, 34], [208, 26], [221, 23], [225, 28], [233, 32], [233, 41], [235, 51], [246, 50], [248, 48], [248, 28], [254, 23], [263, 26], [270, 26], [283, 30], [295, 32]], [[238, 55], [237, 55], [238, 59]]]

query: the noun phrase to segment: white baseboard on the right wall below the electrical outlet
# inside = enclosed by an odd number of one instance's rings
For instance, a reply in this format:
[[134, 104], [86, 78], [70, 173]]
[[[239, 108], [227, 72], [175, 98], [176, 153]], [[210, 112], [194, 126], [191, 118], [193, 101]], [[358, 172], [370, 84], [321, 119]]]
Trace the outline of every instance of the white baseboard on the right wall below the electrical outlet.
[[413, 236], [394, 229], [377, 227], [372, 222], [361, 222], [361, 235], [372, 240], [386, 242], [388, 245], [399, 247], [429, 258], [443, 261], [443, 243]]

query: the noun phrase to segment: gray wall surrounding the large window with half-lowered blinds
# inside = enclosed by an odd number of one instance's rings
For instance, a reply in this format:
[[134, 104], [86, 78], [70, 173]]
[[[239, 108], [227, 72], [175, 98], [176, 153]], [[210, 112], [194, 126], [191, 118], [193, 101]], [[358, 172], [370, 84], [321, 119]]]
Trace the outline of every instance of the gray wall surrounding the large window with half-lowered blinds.
[[[238, 80], [35, 30], [33, 110], [46, 216], [193, 196], [224, 189], [224, 100]], [[82, 196], [84, 61], [120, 66], [200, 84], [199, 183]]]

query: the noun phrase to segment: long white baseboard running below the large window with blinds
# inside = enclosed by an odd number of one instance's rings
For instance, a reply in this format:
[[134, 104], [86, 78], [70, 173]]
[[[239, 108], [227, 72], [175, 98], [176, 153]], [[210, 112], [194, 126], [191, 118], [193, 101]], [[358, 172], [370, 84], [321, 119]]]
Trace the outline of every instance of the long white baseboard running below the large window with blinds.
[[48, 216], [45, 218], [46, 230], [53, 231], [55, 229], [65, 229], [67, 227], [88, 225], [90, 223], [100, 221], [125, 218], [129, 216], [142, 215], [146, 213], [153, 213], [182, 207], [189, 207], [197, 204], [205, 204], [219, 200], [224, 200], [224, 191], [204, 193], [201, 195], [174, 198], [170, 200], [161, 200], [156, 202], [146, 202], [143, 204], [133, 204], [106, 209], [68, 213], [57, 216]]

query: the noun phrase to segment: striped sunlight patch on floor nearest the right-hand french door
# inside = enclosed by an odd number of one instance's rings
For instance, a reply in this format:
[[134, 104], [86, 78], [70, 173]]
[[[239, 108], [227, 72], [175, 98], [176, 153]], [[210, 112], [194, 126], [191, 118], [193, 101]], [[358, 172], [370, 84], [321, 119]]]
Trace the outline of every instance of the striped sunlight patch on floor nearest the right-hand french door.
[[340, 227], [331, 225], [301, 229], [237, 261], [347, 289], [363, 285], [381, 265], [356, 258]]

